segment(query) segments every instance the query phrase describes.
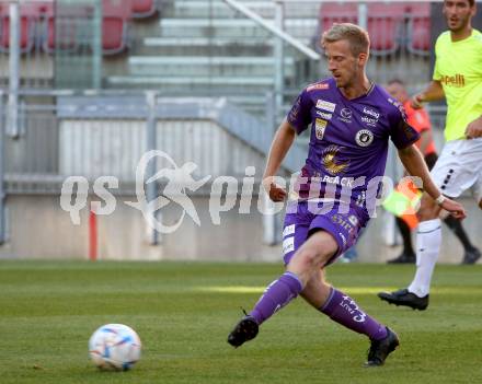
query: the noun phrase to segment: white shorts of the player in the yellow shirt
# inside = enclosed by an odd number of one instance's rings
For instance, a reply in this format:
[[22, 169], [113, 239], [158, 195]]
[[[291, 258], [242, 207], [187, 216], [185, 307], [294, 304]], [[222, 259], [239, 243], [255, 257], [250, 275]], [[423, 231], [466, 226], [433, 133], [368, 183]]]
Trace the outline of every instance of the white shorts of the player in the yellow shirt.
[[482, 199], [482, 138], [447, 142], [431, 175], [444, 195], [455, 198], [471, 189], [479, 203]]

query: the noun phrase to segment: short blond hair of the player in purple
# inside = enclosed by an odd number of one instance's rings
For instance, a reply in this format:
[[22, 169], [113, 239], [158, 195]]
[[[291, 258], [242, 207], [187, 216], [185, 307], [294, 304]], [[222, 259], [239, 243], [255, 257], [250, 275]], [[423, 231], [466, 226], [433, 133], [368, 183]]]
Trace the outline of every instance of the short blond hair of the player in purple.
[[333, 26], [323, 33], [321, 45], [324, 47], [326, 43], [335, 43], [347, 40], [353, 56], [359, 54], [368, 54], [370, 49], [370, 37], [368, 32], [358, 25], [352, 23], [333, 24]]

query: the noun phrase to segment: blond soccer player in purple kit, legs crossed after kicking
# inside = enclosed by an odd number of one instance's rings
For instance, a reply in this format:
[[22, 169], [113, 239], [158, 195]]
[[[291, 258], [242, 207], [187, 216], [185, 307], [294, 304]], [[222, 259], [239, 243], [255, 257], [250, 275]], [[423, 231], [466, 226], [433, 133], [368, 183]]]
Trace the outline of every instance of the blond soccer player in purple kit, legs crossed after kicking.
[[[296, 135], [310, 126], [308, 158], [299, 187], [290, 194], [298, 198], [288, 202], [285, 217], [286, 272], [234, 326], [228, 342], [240, 347], [253, 339], [260, 325], [301, 295], [334, 322], [368, 336], [371, 345], [366, 366], [376, 366], [399, 346], [397, 334], [331, 287], [324, 269], [356, 242], [376, 208], [389, 139], [409, 173], [421, 177], [426, 193], [436, 199], [440, 191], [414, 146], [418, 133], [406, 124], [403, 107], [366, 75], [366, 31], [354, 24], [335, 24], [323, 34], [322, 45], [333, 77], [309, 85], [298, 96], [273, 139], [263, 177], [269, 198], [283, 201], [287, 194], [273, 183], [274, 176]], [[458, 202], [447, 198], [441, 205], [454, 216], [464, 217]]]

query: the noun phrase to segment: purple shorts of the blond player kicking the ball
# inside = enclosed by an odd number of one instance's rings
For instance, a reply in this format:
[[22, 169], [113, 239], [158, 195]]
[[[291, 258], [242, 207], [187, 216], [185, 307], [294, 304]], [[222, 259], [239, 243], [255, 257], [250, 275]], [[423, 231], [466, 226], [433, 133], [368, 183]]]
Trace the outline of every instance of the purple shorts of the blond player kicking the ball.
[[318, 213], [308, 209], [307, 201], [298, 202], [296, 209], [286, 213], [283, 230], [283, 253], [285, 265], [288, 265], [296, 251], [315, 231], [326, 231], [333, 235], [338, 249], [326, 263], [332, 264], [341, 254], [356, 243], [360, 229], [368, 218], [355, 207], [346, 207], [345, 211], [334, 208], [329, 212]]

